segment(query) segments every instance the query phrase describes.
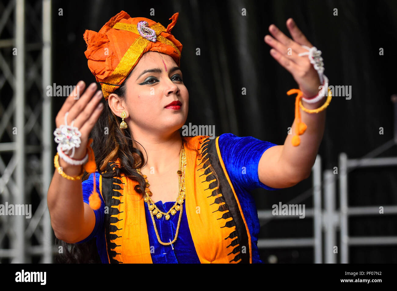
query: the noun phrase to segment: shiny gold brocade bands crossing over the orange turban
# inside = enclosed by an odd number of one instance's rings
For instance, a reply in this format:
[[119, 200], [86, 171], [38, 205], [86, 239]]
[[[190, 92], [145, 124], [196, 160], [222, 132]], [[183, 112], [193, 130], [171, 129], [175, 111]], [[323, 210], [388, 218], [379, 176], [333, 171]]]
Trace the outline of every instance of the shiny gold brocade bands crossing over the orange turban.
[[[126, 30], [133, 32], [135, 34], [139, 34], [139, 31], [137, 30], [137, 25], [134, 24], [118, 22], [113, 26], [113, 28], [119, 30]], [[161, 32], [166, 31], [166, 28], [164, 26], [162, 26], [160, 23], [156, 23], [150, 26], [150, 28], [156, 32], [156, 36], [157, 36], [156, 39], [159, 42], [172, 46], [175, 49], [175, 51], [177, 51], [179, 57], [181, 57], [181, 52], [175, 46], [175, 44], [173, 44], [172, 41], [168, 40], [164, 36], [158, 36]], [[135, 42], [131, 44], [129, 49], [125, 52], [125, 54], [121, 58], [119, 64], [117, 65], [113, 73], [106, 79], [106, 83], [110, 83], [114, 85], [119, 84], [119, 82], [121, 82], [121, 80], [123, 80], [127, 76], [127, 74], [131, 69], [131, 64], [135, 64], [137, 62], [137, 60], [139, 59], [143, 50], [146, 48], [149, 42], [150, 40], [147, 40], [143, 36], [139, 36], [135, 40]], [[114, 85], [108, 85], [102, 83], [102, 93], [105, 99], [109, 97], [110, 92], [114, 91], [115, 89]]]

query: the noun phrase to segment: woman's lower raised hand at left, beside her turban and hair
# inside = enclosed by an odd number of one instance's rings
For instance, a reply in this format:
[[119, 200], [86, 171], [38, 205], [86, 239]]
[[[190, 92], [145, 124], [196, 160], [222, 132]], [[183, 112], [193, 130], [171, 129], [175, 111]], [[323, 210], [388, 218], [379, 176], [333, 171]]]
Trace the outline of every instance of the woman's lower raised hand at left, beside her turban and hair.
[[[68, 125], [71, 125], [71, 122], [75, 119], [73, 126], [77, 127], [81, 132], [81, 144], [78, 148], [75, 148], [73, 156], [75, 160], [81, 160], [87, 154], [89, 134], [103, 109], [103, 104], [100, 102], [103, 95], [102, 91], [96, 91], [97, 85], [92, 83], [83, 93], [84, 89], [85, 83], [83, 81], [77, 83], [77, 86], [66, 98], [64, 105], [62, 105], [55, 118], [56, 127], [65, 124], [66, 112], [69, 112], [66, 117]], [[69, 154], [71, 154], [71, 150]]]

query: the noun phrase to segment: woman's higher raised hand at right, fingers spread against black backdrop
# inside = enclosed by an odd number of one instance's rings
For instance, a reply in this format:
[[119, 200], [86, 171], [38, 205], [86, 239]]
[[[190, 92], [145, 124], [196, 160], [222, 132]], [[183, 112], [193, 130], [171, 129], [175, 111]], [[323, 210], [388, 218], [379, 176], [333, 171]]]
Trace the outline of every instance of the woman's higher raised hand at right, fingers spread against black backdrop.
[[303, 97], [310, 98], [318, 94], [320, 91], [318, 87], [322, 84], [308, 56], [303, 55], [300, 57], [299, 53], [308, 51], [302, 45], [309, 48], [313, 45], [307, 40], [292, 18], [287, 20], [287, 27], [293, 40], [283, 34], [274, 24], [269, 27], [269, 31], [274, 38], [266, 35], [264, 40], [272, 47], [270, 55], [292, 74], [303, 93]]

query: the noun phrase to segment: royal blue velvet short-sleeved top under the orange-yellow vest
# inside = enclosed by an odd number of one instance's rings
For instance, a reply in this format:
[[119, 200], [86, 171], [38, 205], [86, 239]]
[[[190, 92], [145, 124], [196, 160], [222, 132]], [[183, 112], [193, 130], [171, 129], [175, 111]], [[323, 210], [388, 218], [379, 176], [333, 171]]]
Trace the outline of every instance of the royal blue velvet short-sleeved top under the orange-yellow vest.
[[[260, 228], [258, 213], [250, 191], [255, 188], [279, 190], [278, 188], [272, 188], [261, 183], [258, 177], [258, 164], [262, 154], [265, 150], [275, 145], [276, 144], [274, 143], [261, 141], [254, 137], [237, 137], [231, 133], [224, 133], [219, 137], [221, 156], [236, 195], [239, 199], [241, 209], [243, 210], [243, 214], [251, 234], [252, 263], [263, 262], [260, 259], [257, 247], [258, 233]], [[89, 195], [93, 190], [93, 177], [94, 174], [91, 174], [89, 179], [83, 181], [82, 183], [83, 200], [87, 204], [89, 203]], [[99, 172], [96, 172], [95, 178], [97, 187], [96, 190], [99, 193]], [[98, 247], [98, 253], [100, 255], [101, 261], [103, 263], [108, 263], [104, 235], [104, 201], [101, 196], [100, 198], [102, 200], [102, 207], [94, 211], [96, 221], [93, 232], [81, 242], [86, 242], [96, 237], [96, 245]], [[157, 207], [164, 212], [167, 212], [173, 204], [175, 204], [175, 202], [156, 202]], [[200, 263], [195, 251], [192, 236], [190, 234], [186, 211], [182, 212], [178, 238], [173, 245], [162, 245], [158, 242], [146, 203], [145, 214], [149, 243], [151, 246], [154, 246], [154, 249], [156, 249], [156, 252], [151, 254], [153, 263]], [[164, 219], [164, 216], [162, 219], [155, 220], [158, 234], [162, 242], [169, 242], [170, 240], [173, 240], [175, 237], [178, 219], [179, 215], [171, 215], [169, 220]]]

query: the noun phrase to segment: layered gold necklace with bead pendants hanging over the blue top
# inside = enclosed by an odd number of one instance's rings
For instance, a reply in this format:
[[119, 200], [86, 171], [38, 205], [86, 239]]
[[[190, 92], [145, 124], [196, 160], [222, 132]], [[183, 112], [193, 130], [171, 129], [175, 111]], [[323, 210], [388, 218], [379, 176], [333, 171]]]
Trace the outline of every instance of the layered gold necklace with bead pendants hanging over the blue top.
[[[185, 154], [185, 148], [183, 147], [183, 144], [182, 144], [181, 151], [179, 152], [179, 170], [177, 171], [177, 174], [178, 174], [178, 177], [179, 177], [178, 196], [177, 196], [177, 199], [175, 201], [175, 204], [166, 213], [164, 213], [163, 211], [158, 209], [156, 204], [154, 204], [152, 198], [150, 198], [150, 196], [152, 196], [152, 192], [149, 190], [150, 184], [149, 184], [149, 182], [147, 180], [147, 176], [143, 175], [141, 173], [141, 169], [137, 169], [137, 172], [140, 175], [142, 175], [142, 177], [145, 178], [146, 185], [145, 185], [145, 198], [144, 198], [144, 201], [148, 204], [150, 217], [152, 217], [152, 222], [153, 222], [153, 226], [154, 226], [154, 232], [156, 232], [157, 240], [162, 245], [171, 245], [172, 243], [174, 243], [176, 241], [176, 239], [178, 237], [179, 226], [181, 224], [181, 219], [182, 219], [183, 201], [185, 200], [185, 190], [186, 190], [186, 188], [185, 188], [185, 168], [186, 168], [186, 154]], [[167, 243], [162, 242], [160, 240], [160, 236], [158, 235], [156, 222], [154, 221], [154, 215], [156, 215], [157, 219], [161, 219], [162, 216], [164, 215], [165, 219], [168, 220], [168, 219], [170, 219], [170, 213], [171, 213], [171, 215], [175, 215], [177, 213], [177, 211], [180, 211], [180, 212], [179, 212], [179, 219], [178, 219], [177, 228], [176, 228], [176, 231], [175, 231], [175, 238], [173, 239], [172, 242], [171, 241], [167, 242]]]

